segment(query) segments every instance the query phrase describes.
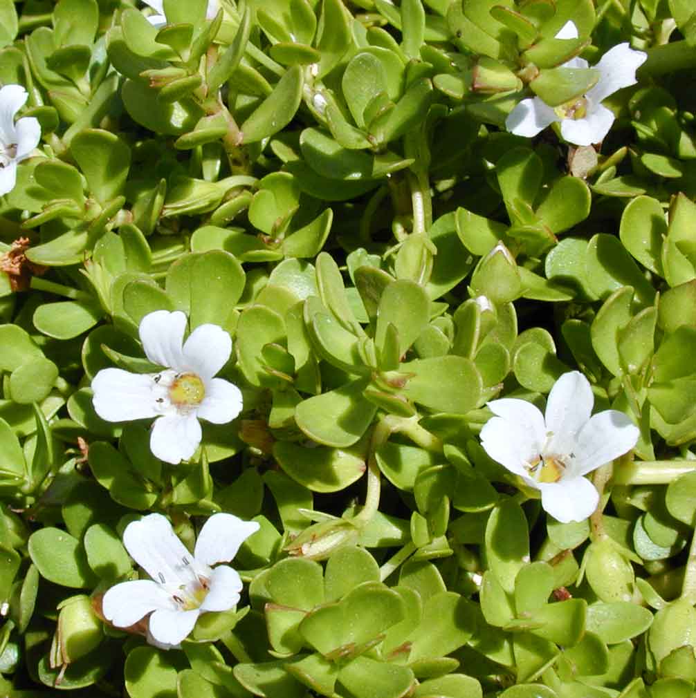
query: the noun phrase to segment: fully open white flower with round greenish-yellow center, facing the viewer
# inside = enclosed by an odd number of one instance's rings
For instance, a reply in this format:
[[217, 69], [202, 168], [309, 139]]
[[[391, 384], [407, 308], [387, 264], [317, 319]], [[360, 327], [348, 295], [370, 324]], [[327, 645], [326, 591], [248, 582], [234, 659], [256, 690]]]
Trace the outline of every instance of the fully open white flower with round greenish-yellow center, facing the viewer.
[[94, 410], [108, 422], [157, 417], [150, 450], [167, 463], [193, 456], [201, 424], [231, 422], [242, 410], [240, 389], [213, 378], [232, 351], [232, 340], [217, 325], [199, 325], [184, 342], [186, 315], [166, 310], [145, 315], [138, 331], [145, 355], [166, 366], [159, 373], [102, 369], [92, 380]]

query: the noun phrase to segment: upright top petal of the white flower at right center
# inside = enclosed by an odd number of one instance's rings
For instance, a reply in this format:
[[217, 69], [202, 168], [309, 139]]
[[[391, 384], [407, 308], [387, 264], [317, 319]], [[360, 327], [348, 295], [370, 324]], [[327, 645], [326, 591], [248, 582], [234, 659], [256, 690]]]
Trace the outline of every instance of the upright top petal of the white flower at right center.
[[564, 455], [573, 452], [575, 436], [590, 419], [595, 396], [590, 382], [579, 371], [563, 373], [553, 384], [546, 402], [546, 431], [549, 442], [544, 452]]

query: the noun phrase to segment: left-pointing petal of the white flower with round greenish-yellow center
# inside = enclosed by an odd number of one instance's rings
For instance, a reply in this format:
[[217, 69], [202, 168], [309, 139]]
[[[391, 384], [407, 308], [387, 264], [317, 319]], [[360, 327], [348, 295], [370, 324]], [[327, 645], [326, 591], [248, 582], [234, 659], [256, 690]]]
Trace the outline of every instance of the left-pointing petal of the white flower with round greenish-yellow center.
[[107, 422], [156, 417], [152, 385], [150, 373], [101, 369], [92, 379], [94, 411]]

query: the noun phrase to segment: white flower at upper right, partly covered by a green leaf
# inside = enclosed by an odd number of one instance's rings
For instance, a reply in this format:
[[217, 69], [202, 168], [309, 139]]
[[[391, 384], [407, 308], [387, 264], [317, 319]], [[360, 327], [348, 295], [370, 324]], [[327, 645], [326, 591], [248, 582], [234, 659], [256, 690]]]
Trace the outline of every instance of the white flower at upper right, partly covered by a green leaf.
[[[578, 38], [577, 27], [573, 22], [567, 22], [556, 38]], [[554, 121], [560, 121], [560, 134], [567, 142], [575, 145], [599, 143], [609, 133], [615, 119], [614, 112], [602, 101], [617, 90], [636, 84], [636, 70], [647, 57], [643, 51], [633, 50], [628, 43], [618, 44], [593, 66], [600, 78], [586, 94], [560, 107], [549, 107], [539, 97], [523, 99], [508, 114], [505, 127], [515, 135], [531, 138]], [[561, 67], [588, 68], [589, 64], [581, 58], [573, 58]]]

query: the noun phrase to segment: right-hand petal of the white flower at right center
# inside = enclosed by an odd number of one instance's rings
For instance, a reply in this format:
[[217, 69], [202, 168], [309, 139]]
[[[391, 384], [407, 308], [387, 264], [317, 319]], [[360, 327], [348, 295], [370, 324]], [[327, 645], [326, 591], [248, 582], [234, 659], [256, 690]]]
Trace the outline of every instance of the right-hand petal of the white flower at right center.
[[639, 436], [638, 427], [623, 412], [605, 410], [594, 415], [577, 436], [574, 474], [585, 475], [623, 456]]

